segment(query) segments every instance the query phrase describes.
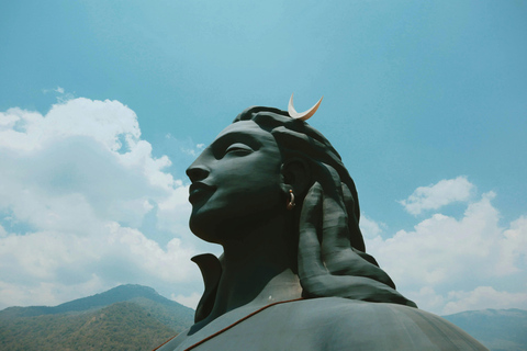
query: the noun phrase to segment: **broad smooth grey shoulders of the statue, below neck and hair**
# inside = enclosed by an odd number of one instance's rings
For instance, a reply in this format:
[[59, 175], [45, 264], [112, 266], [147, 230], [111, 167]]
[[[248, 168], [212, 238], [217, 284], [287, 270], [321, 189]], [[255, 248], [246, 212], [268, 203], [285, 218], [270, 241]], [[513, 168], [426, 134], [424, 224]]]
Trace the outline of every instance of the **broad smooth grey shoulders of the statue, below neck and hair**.
[[486, 350], [447, 320], [418, 308], [312, 298], [244, 308], [198, 331], [186, 331], [159, 350]]

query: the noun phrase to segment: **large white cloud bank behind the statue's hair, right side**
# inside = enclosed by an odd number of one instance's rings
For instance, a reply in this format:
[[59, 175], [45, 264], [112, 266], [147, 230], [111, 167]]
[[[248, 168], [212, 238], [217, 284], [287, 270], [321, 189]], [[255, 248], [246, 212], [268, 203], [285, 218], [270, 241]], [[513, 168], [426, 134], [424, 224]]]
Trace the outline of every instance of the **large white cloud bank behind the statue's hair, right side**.
[[[424, 309], [449, 314], [463, 308], [526, 307], [526, 286], [519, 282], [527, 281], [527, 218], [502, 227], [492, 205], [494, 196], [484, 193], [469, 203], [460, 219], [437, 213], [414, 230], [399, 230], [388, 239], [365, 235], [367, 249], [399, 290]], [[367, 228], [375, 228], [371, 222], [367, 220]], [[498, 304], [502, 297], [512, 303]]]

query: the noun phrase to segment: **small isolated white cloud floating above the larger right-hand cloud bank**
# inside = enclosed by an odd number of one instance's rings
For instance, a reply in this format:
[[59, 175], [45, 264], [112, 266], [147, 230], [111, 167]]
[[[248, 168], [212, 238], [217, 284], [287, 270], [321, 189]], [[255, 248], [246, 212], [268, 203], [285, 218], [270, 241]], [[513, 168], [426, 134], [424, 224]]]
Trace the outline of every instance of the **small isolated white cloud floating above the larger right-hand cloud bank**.
[[418, 215], [426, 210], [438, 210], [452, 202], [468, 201], [474, 185], [467, 180], [467, 177], [445, 179], [437, 184], [417, 188], [406, 200], [400, 201], [404, 208]]

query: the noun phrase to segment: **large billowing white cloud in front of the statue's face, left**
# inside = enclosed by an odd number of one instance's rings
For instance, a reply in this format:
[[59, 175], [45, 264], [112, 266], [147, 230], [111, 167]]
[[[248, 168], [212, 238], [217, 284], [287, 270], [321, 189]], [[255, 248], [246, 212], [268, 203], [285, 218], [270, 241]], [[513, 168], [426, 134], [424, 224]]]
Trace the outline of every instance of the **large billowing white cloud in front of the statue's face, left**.
[[[58, 304], [120, 283], [199, 291], [188, 189], [168, 166], [119, 101], [0, 112], [0, 308]], [[145, 216], [154, 224], [145, 227]], [[175, 236], [165, 246], [160, 228]]]

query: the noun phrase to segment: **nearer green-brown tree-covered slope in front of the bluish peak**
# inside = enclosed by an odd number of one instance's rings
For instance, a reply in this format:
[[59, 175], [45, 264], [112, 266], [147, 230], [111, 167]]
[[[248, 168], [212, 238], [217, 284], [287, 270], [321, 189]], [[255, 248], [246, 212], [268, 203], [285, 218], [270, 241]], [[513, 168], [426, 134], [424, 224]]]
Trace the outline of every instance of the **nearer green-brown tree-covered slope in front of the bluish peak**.
[[1, 321], [1, 350], [152, 350], [176, 331], [139, 305], [115, 303], [80, 314]]

